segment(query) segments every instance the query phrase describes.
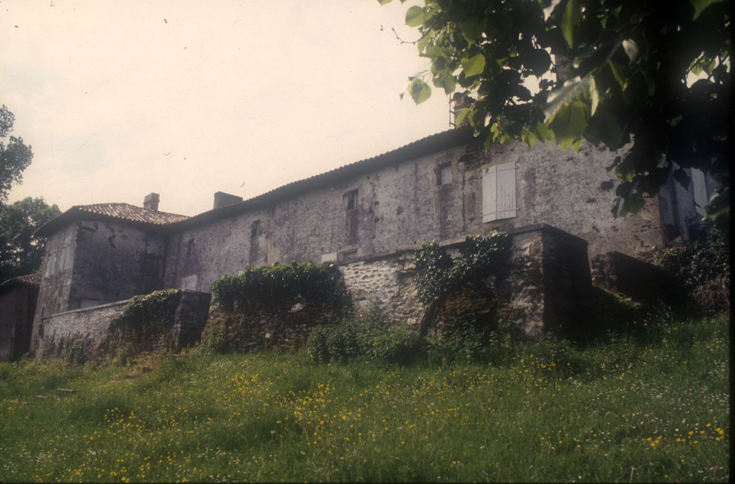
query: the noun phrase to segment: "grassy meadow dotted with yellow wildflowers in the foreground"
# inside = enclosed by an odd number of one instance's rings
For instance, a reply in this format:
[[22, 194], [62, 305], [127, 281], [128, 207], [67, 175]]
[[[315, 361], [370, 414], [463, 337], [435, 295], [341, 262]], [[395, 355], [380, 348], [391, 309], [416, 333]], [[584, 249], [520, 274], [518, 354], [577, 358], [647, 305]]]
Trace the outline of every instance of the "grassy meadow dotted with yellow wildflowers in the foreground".
[[728, 319], [492, 365], [3, 363], [0, 480], [727, 481]]

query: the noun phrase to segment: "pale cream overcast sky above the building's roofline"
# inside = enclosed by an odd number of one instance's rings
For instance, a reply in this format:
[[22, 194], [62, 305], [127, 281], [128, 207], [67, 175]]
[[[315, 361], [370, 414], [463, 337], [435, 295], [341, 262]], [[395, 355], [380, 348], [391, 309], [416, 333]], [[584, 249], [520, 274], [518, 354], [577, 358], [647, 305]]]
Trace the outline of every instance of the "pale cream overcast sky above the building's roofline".
[[448, 129], [408, 4], [0, 0], [0, 104], [33, 162], [10, 201], [193, 215]]

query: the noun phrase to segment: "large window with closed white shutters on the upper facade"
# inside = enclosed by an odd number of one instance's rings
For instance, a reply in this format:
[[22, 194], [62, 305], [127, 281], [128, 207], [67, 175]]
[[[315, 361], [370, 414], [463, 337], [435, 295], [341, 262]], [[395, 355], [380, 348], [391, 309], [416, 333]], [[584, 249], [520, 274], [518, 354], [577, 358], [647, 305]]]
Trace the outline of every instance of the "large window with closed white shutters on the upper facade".
[[515, 163], [493, 165], [482, 171], [482, 221], [516, 216]]

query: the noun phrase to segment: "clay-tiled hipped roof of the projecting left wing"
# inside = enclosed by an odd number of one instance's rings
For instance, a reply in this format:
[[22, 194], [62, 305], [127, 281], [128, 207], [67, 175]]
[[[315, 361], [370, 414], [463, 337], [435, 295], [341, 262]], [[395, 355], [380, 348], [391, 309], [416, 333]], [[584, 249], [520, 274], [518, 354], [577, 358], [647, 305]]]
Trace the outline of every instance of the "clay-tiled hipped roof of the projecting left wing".
[[112, 220], [125, 220], [127, 222], [162, 227], [174, 222], [186, 220], [186, 215], [169, 214], [157, 210], [144, 209], [129, 203], [93, 203], [91, 205], [75, 205], [66, 212], [60, 214], [54, 220], [50, 220], [36, 231], [37, 235], [49, 236], [71, 220], [79, 220], [89, 215], [103, 217]]

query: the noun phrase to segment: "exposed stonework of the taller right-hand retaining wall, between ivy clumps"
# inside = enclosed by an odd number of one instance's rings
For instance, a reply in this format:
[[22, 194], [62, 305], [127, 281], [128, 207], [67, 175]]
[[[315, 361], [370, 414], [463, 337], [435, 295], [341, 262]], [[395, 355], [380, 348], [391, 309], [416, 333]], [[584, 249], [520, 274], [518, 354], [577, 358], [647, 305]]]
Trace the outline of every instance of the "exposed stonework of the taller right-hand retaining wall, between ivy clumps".
[[[503, 273], [488, 281], [503, 317], [528, 336], [564, 331], [576, 298], [592, 285], [587, 241], [551, 225], [509, 231], [512, 253]], [[464, 240], [442, 247], [459, 253]], [[415, 288], [415, 250], [401, 250], [341, 267], [356, 309], [379, 308], [392, 322], [418, 325], [424, 306]]]

